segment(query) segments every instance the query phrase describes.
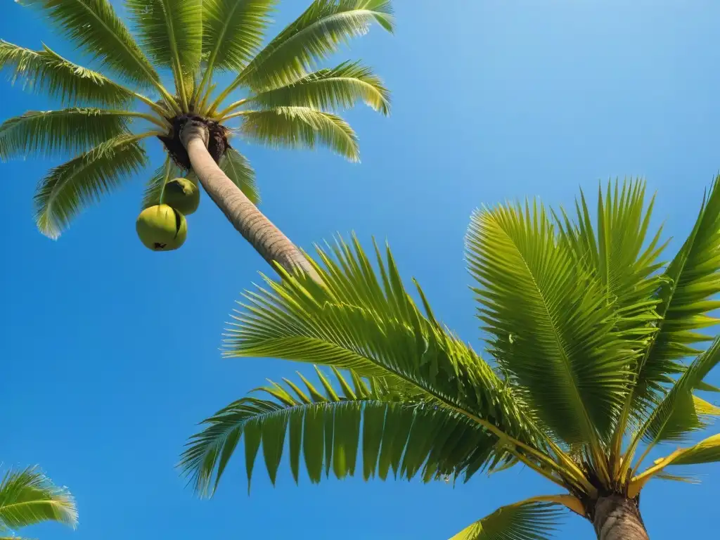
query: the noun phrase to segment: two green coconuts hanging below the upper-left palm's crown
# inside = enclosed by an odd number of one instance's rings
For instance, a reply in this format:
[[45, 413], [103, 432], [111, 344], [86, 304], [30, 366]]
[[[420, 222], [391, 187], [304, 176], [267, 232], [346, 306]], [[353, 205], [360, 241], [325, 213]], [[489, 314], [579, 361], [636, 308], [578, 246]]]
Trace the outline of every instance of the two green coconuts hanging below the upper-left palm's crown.
[[145, 208], [135, 222], [143, 245], [153, 251], [172, 251], [187, 237], [186, 215], [200, 204], [199, 186], [187, 178], [176, 178], [165, 184], [160, 204]]

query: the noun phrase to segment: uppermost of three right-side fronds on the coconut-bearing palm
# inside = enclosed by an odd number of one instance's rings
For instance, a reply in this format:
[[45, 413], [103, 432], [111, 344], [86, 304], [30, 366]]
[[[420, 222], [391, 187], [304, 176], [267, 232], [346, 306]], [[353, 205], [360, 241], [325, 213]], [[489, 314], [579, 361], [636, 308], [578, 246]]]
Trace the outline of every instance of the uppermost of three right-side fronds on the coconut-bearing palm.
[[390, 0], [315, 0], [248, 63], [238, 81], [256, 91], [291, 84], [372, 22], [392, 32]]

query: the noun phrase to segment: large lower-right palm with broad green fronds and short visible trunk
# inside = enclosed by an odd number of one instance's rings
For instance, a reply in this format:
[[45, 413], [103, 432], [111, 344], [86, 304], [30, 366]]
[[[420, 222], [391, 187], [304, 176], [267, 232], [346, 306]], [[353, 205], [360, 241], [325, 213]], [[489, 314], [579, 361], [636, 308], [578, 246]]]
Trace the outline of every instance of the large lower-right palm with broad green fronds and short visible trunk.
[[[472, 216], [467, 261], [486, 359], [419, 285], [411, 296], [389, 250], [375, 246], [373, 262], [355, 239], [318, 248], [323, 284], [288, 275], [248, 292], [226, 356], [332, 374], [271, 382], [204, 420], [181, 460], [194, 487], [215, 491], [241, 439], [248, 485], [261, 445], [272, 482], [285, 451], [296, 482], [301, 467], [310, 482], [330, 470], [467, 482], [523, 464], [557, 492], [500, 508], [455, 539], [544, 539], [567, 509], [598, 539], [647, 539], [647, 482], [720, 461], [720, 434], [688, 440], [720, 413], [695, 393], [718, 390], [703, 379], [720, 339], [698, 330], [720, 306], [720, 177], [667, 265], [641, 181], [608, 184], [597, 204], [595, 218], [584, 195], [570, 213], [526, 202]], [[651, 451], [681, 442], [644, 467]]]

